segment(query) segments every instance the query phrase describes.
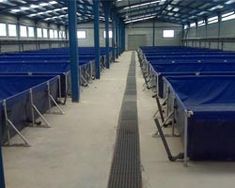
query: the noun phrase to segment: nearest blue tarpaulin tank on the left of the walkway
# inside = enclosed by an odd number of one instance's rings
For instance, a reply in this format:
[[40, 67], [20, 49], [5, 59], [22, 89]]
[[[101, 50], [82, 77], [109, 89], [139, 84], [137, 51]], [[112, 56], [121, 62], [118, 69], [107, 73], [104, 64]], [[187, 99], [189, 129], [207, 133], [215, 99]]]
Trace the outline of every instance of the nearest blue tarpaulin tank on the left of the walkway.
[[[8, 118], [13, 122], [18, 130], [21, 130], [28, 123], [32, 122], [32, 107], [30, 101], [30, 88], [32, 89], [33, 103], [41, 113], [49, 109], [49, 90], [50, 94], [57, 99], [58, 76], [0, 76], [0, 113], [2, 128], [1, 141], [7, 139], [7, 126], [4, 119], [3, 99], [6, 101]], [[20, 113], [19, 113], [20, 112]], [[38, 114], [34, 114], [35, 118]], [[15, 131], [10, 127], [10, 135]]]

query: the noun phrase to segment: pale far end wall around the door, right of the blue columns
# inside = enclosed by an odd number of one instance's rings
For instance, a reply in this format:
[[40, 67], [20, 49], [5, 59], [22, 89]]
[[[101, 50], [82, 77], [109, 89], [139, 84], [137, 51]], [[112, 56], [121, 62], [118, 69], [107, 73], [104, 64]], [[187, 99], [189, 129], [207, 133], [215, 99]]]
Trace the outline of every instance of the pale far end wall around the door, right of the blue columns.
[[[175, 30], [174, 38], [163, 38], [163, 30]], [[128, 47], [128, 35], [147, 35], [147, 46], [153, 44], [153, 21], [138, 22], [126, 26], [126, 48]], [[155, 21], [155, 45], [156, 46], [179, 46], [182, 39], [182, 26], [166, 22]]]

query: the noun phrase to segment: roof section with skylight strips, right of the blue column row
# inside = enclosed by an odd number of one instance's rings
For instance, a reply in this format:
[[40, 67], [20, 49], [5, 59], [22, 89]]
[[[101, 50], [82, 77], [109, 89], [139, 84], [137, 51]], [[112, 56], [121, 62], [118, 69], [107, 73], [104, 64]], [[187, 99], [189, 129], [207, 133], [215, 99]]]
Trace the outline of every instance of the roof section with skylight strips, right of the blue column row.
[[155, 18], [188, 24], [233, 11], [235, 0], [116, 0], [115, 5], [126, 23]]

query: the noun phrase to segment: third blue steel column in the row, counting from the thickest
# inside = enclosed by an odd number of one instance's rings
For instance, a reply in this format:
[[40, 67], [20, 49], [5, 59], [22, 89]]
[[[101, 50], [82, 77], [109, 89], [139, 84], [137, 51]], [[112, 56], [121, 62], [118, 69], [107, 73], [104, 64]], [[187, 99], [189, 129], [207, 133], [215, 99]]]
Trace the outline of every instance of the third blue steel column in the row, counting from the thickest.
[[105, 14], [105, 47], [106, 47], [106, 68], [109, 69], [109, 14], [110, 14], [110, 2], [104, 2], [104, 14]]

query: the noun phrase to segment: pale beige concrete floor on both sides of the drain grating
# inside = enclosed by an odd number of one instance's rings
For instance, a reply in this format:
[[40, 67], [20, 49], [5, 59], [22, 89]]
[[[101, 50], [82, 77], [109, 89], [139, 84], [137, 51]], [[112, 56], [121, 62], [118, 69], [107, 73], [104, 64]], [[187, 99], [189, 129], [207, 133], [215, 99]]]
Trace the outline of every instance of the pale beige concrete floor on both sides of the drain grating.
[[[47, 115], [52, 128], [25, 129], [32, 147], [3, 149], [8, 188], [107, 187], [130, 60], [131, 53], [124, 53], [83, 89], [79, 104], [63, 107], [65, 115]], [[143, 188], [234, 187], [235, 163], [190, 162], [185, 168], [167, 160], [161, 140], [152, 136], [156, 103], [136, 66]], [[179, 138], [169, 142], [175, 153], [182, 151]]]

